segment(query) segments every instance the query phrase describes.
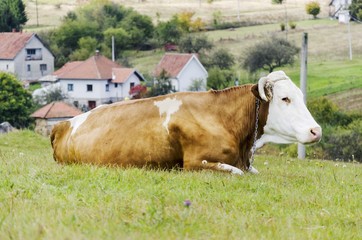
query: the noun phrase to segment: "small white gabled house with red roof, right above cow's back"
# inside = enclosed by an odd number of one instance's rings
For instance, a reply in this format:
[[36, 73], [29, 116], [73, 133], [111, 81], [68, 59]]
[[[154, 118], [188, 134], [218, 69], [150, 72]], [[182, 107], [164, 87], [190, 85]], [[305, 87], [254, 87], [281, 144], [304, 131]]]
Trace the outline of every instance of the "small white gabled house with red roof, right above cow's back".
[[206, 90], [208, 73], [196, 54], [166, 53], [157, 65], [154, 76], [165, 72], [175, 91], [189, 91], [194, 81], [202, 81], [201, 90]]

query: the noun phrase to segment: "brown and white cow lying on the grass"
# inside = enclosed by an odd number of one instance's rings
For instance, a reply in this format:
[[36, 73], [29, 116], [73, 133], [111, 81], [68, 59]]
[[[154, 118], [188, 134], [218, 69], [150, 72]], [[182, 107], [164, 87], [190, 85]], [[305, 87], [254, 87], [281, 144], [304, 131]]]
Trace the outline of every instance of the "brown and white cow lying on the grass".
[[257, 84], [99, 106], [54, 126], [59, 163], [258, 173], [251, 150], [316, 143], [322, 129], [283, 71]]

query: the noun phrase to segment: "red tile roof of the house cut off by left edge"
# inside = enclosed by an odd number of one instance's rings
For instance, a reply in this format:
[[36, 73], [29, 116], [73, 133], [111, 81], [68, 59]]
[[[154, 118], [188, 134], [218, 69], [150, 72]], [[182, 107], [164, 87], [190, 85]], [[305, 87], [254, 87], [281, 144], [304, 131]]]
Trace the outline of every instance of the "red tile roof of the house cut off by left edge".
[[0, 59], [14, 59], [34, 35], [26, 32], [0, 33]]

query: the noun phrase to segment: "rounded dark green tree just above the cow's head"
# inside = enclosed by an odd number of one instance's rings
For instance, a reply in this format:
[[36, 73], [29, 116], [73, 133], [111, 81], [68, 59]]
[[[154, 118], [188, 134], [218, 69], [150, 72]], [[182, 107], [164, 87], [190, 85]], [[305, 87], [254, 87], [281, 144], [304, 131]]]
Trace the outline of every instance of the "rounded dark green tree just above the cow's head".
[[251, 73], [260, 69], [272, 72], [277, 67], [293, 64], [298, 52], [299, 48], [287, 40], [272, 37], [251, 48], [242, 66]]

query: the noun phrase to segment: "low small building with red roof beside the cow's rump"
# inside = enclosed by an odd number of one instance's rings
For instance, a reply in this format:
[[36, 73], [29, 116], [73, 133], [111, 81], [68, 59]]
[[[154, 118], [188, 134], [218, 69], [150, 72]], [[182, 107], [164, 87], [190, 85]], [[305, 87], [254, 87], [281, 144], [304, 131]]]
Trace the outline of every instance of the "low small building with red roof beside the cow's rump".
[[52, 102], [30, 116], [35, 118], [35, 132], [49, 136], [53, 126], [81, 114], [82, 111], [64, 102]]

